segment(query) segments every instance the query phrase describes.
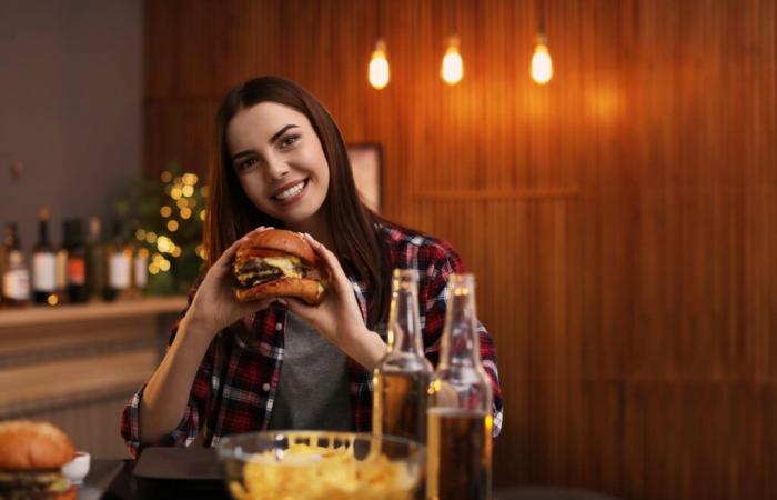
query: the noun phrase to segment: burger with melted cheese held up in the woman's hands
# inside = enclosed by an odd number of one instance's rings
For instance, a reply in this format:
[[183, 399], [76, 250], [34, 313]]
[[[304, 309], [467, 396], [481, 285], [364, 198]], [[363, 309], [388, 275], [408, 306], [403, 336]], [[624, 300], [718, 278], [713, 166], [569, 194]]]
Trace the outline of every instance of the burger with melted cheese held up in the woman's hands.
[[326, 274], [313, 247], [282, 229], [250, 236], [238, 247], [232, 271], [234, 297], [241, 302], [294, 297], [314, 306], [326, 291]]

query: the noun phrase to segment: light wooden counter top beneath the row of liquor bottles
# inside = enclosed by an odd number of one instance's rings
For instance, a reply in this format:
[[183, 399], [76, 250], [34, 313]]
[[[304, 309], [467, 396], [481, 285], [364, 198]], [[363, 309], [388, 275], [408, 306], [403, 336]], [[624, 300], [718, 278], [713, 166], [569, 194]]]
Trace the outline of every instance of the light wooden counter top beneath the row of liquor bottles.
[[29, 307], [0, 311], [0, 329], [37, 324], [119, 319], [175, 313], [186, 307], [183, 296], [154, 297], [118, 302], [90, 302], [59, 307]]

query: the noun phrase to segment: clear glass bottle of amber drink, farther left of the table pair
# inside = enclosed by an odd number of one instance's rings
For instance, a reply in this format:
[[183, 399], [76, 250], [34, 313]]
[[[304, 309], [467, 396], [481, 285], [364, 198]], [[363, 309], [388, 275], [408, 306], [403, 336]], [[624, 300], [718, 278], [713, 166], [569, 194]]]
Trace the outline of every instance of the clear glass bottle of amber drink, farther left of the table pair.
[[426, 390], [432, 364], [423, 352], [418, 277], [414, 270], [394, 270], [387, 333], [386, 354], [373, 373], [373, 432], [426, 442]]

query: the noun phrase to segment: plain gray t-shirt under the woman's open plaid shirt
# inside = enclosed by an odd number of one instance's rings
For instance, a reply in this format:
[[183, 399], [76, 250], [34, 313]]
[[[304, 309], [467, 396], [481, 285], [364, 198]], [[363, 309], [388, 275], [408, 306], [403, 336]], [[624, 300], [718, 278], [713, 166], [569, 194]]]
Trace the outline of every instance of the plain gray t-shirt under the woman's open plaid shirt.
[[292, 312], [268, 429], [351, 429], [345, 354]]

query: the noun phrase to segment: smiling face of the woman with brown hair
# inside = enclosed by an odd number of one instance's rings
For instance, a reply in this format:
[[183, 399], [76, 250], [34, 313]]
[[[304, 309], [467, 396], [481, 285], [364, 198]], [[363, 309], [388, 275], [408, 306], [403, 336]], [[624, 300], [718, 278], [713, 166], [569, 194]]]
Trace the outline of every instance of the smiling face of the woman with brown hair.
[[239, 111], [226, 127], [232, 168], [253, 204], [291, 230], [322, 229], [330, 169], [307, 117], [276, 102]]

